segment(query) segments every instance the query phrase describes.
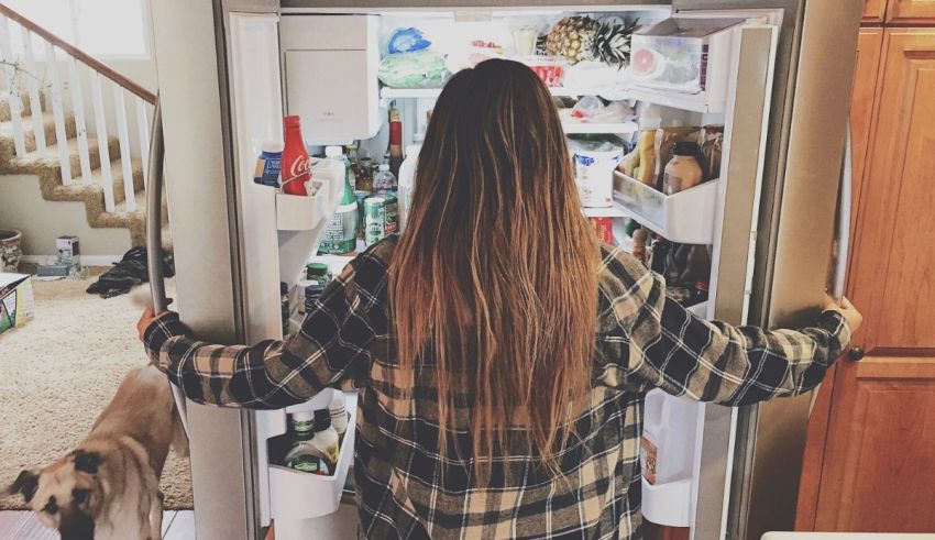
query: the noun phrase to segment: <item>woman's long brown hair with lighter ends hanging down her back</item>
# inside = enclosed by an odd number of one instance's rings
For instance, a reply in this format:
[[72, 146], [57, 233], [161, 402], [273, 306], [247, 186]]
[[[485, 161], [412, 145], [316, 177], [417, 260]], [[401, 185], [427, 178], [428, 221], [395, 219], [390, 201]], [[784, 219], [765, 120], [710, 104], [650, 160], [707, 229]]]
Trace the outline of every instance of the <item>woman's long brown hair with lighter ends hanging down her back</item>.
[[[442, 453], [447, 429], [470, 428], [475, 463], [490, 465], [522, 427], [557, 471], [590, 389], [598, 263], [548, 88], [507, 60], [454, 75], [391, 265], [398, 363], [432, 371]], [[470, 425], [457, 426], [463, 396]]]

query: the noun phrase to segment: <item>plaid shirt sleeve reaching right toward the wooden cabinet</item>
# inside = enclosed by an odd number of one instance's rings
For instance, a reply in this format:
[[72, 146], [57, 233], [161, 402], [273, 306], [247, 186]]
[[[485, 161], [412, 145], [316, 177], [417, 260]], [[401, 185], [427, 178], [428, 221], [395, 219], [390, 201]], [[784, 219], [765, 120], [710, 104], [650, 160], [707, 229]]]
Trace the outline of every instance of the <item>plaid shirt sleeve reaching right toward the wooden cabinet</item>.
[[616, 254], [610, 265], [624, 276], [610, 300], [626, 343], [622, 367], [640, 388], [732, 406], [794, 396], [817, 386], [850, 341], [836, 311], [802, 330], [708, 322], [668, 298], [663, 278], [632, 257]]

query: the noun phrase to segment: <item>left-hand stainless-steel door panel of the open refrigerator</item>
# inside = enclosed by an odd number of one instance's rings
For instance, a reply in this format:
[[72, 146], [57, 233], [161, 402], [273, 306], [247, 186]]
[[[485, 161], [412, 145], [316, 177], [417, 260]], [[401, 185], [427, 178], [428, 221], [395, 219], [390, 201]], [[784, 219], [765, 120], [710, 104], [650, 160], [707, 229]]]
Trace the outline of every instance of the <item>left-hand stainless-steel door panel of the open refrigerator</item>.
[[[216, 24], [216, 7], [153, 2], [153, 41], [175, 231], [176, 308], [198, 337], [242, 343], [246, 334], [237, 241], [242, 225], [226, 145], [230, 109], [219, 37], [226, 29]], [[198, 538], [257, 538], [253, 445], [244, 444], [252, 439], [250, 415], [189, 403], [188, 427]]]

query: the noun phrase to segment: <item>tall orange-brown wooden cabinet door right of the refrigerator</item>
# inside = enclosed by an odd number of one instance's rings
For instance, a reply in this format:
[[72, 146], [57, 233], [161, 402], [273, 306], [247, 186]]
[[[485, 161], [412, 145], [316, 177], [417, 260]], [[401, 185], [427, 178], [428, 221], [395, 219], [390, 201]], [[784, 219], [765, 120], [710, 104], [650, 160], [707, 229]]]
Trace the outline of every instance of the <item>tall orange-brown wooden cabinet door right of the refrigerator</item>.
[[935, 30], [887, 30], [814, 530], [935, 531]]

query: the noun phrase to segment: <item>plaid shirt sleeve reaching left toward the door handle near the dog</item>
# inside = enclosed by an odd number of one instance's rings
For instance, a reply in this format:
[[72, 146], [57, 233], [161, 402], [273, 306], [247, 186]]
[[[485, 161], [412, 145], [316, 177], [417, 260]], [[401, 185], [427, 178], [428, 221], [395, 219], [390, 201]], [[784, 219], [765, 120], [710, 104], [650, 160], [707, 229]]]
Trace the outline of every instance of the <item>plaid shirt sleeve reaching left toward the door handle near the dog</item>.
[[326, 387], [348, 386], [370, 364], [374, 331], [355, 280], [352, 261], [286, 341], [211, 344], [194, 339], [168, 312], [150, 324], [144, 343], [150, 359], [196, 403], [253, 409], [304, 403]]

